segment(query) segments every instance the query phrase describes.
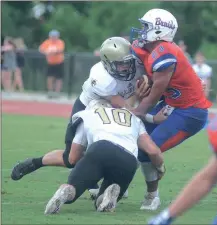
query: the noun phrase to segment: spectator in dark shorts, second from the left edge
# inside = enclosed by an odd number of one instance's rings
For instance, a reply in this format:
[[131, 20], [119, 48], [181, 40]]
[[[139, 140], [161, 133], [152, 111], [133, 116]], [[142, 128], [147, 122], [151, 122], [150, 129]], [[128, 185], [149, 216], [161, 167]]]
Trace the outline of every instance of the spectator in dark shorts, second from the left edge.
[[24, 91], [23, 88], [23, 79], [22, 79], [22, 68], [25, 65], [24, 51], [26, 50], [26, 45], [22, 38], [14, 39], [16, 45], [16, 59], [17, 59], [17, 68], [14, 74], [13, 88], [16, 90], [18, 87], [19, 91]]

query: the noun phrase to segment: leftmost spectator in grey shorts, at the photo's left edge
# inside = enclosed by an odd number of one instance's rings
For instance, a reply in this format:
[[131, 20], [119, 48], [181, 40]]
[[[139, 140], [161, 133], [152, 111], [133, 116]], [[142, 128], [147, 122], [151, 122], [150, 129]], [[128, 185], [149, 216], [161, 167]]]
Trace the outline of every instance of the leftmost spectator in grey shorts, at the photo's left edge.
[[11, 38], [5, 38], [1, 51], [4, 53], [2, 65], [2, 86], [5, 91], [10, 92], [12, 91], [12, 72], [15, 72], [17, 68], [16, 46]]

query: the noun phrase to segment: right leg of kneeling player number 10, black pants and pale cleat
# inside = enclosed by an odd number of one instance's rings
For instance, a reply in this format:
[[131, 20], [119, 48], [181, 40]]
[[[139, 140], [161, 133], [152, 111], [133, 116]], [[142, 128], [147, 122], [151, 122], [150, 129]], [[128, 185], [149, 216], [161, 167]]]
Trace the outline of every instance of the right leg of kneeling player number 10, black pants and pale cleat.
[[98, 211], [112, 211], [135, 175], [137, 160], [125, 149], [110, 142], [105, 144], [104, 154], [107, 159], [104, 163], [104, 180], [95, 206]]

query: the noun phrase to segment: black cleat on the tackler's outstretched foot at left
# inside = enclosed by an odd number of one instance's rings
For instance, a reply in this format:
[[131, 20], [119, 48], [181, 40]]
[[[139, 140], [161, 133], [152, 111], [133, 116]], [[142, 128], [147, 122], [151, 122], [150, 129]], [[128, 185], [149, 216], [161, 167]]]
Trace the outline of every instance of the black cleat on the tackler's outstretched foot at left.
[[33, 164], [33, 159], [26, 159], [23, 162], [18, 163], [12, 170], [11, 179], [20, 180], [23, 176], [36, 170]]

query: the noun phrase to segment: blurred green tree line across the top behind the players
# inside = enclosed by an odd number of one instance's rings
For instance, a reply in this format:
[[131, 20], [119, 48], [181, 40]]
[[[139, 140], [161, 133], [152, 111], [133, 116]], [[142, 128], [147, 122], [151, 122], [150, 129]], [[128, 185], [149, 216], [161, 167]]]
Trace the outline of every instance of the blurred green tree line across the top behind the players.
[[45, 10], [36, 18], [33, 8], [37, 4], [38, 1], [2, 2], [2, 35], [22, 37], [28, 48], [38, 48], [48, 32], [57, 29], [67, 51], [93, 51], [109, 36], [128, 36], [131, 27], [140, 27], [138, 18], [149, 9], [163, 8], [177, 18], [176, 41], [184, 40], [190, 54], [200, 48], [210, 58], [217, 54], [216, 2], [47, 1], [40, 3]]

